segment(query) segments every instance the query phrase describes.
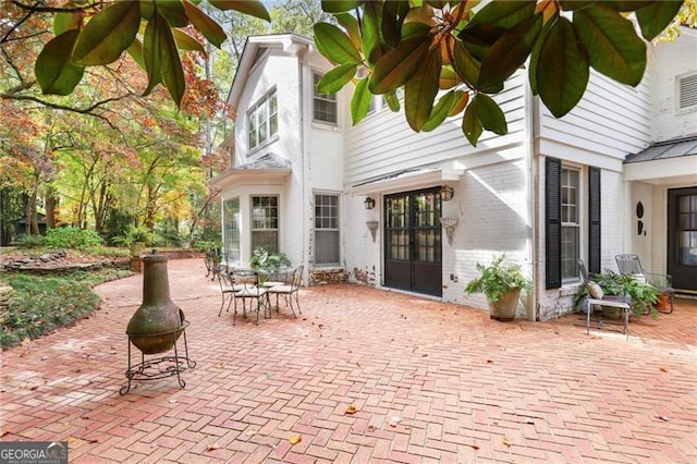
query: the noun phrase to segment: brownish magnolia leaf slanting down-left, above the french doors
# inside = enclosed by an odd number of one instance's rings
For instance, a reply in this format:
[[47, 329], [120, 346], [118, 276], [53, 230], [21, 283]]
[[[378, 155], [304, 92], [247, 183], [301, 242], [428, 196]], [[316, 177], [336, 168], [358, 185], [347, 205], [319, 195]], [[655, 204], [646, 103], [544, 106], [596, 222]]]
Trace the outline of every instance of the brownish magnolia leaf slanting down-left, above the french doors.
[[[370, 74], [370, 91], [387, 94], [404, 85], [424, 66], [424, 61], [429, 54], [429, 46], [428, 37], [411, 37], [402, 41], [398, 48], [384, 53]], [[440, 58], [439, 53], [430, 54]], [[438, 81], [436, 84], [438, 85]]]

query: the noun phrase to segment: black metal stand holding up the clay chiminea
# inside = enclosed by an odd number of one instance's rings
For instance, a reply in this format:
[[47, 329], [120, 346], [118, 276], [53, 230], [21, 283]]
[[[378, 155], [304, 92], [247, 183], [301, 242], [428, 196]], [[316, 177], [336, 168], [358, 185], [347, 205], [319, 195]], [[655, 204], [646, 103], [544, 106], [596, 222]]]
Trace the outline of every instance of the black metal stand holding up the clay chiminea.
[[[196, 367], [196, 362], [188, 358], [188, 346], [186, 344], [186, 327], [188, 327], [188, 320], [184, 320], [182, 322], [182, 327], [179, 329], [170, 330], [161, 333], [148, 333], [134, 335], [138, 338], [147, 338], [147, 337], [172, 337], [173, 340], [173, 349], [174, 356], [160, 356], [150, 359], [145, 359], [145, 353], [140, 352], [140, 363], [135, 366], [131, 365], [131, 334], [129, 334], [129, 369], [126, 370], [126, 378], [129, 379], [129, 384], [124, 386], [119, 390], [119, 394], [122, 396], [131, 391], [131, 382], [137, 380], [158, 380], [167, 377], [176, 376], [176, 380], [181, 388], [186, 387], [186, 382], [180, 376], [184, 370], [193, 369]], [[176, 339], [179, 339], [180, 333], [184, 337], [184, 356], [180, 356], [176, 350]]]

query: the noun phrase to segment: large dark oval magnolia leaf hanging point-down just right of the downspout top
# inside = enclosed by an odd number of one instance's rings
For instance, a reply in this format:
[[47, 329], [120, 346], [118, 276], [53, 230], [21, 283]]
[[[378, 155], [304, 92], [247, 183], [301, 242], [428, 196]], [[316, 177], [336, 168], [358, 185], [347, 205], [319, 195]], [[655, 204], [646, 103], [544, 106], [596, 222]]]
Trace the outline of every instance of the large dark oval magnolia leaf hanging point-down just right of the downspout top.
[[568, 20], [560, 17], [551, 27], [535, 62], [537, 90], [557, 118], [571, 111], [588, 85], [588, 56], [576, 40]]

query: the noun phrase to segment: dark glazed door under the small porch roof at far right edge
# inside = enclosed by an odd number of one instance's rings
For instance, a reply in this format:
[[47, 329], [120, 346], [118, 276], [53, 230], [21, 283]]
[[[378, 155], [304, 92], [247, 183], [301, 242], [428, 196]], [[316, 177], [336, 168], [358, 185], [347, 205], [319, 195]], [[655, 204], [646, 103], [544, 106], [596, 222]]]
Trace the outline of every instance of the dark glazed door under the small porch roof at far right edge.
[[674, 289], [697, 292], [697, 187], [668, 191], [668, 273]]

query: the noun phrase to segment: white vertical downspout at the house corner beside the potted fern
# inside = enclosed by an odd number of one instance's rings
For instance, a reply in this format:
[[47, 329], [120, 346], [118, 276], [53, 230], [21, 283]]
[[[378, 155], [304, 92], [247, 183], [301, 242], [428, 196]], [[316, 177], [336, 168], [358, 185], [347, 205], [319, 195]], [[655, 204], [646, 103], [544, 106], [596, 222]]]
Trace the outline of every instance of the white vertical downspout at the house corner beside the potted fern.
[[[525, 81], [525, 78], [524, 78]], [[526, 143], [527, 143], [527, 168], [528, 168], [528, 198], [529, 198], [529, 221], [531, 230], [531, 243], [529, 246], [530, 264], [533, 265], [533, 291], [527, 296], [527, 319], [536, 321], [539, 319], [539, 305], [540, 305], [540, 266], [537, 256], [539, 243], [539, 224], [537, 223], [539, 217], [539, 202], [538, 202], [538, 186], [539, 186], [539, 159], [536, 152], [536, 141], [539, 135], [539, 120], [537, 118], [539, 102], [530, 91], [529, 86], [524, 84], [524, 105], [526, 111]]]

